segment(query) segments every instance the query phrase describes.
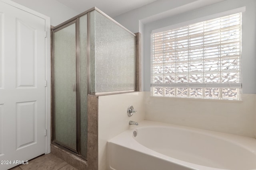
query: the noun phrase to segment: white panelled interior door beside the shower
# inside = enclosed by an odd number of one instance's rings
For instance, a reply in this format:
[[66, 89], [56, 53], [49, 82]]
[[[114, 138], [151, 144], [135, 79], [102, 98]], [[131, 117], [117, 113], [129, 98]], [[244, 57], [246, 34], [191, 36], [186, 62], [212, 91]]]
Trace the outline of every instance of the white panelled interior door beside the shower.
[[0, 1], [0, 170], [44, 153], [45, 20]]

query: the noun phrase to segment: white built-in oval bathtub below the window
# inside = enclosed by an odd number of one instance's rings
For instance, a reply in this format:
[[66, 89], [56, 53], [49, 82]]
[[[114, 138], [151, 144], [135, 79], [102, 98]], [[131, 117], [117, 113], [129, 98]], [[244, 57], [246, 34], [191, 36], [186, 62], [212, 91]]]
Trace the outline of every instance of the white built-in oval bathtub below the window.
[[152, 121], [112, 138], [107, 152], [108, 170], [256, 169], [254, 138]]

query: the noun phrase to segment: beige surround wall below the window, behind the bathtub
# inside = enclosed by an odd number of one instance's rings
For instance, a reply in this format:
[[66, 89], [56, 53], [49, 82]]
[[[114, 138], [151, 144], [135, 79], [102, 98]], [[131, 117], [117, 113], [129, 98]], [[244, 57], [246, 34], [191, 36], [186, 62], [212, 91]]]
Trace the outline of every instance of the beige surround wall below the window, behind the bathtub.
[[152, 97], [145, 92], [146, 120], [254, 137], [256, 94], [242, 101]]

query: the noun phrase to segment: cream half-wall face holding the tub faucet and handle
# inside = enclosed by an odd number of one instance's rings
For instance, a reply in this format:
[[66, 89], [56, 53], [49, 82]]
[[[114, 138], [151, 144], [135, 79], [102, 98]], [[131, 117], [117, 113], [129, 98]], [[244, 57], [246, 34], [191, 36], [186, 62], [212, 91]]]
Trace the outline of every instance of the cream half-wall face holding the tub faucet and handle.
[[[134, 92], [99, 96], [98, 99], [98, 167], [107, 169], [107, 141], [126, 131], [130, 127], [129, 121], [140, 121], [145, 118], [144, 93]], [[132, 105], [137, 113], [128, 117], [127, 109]]]

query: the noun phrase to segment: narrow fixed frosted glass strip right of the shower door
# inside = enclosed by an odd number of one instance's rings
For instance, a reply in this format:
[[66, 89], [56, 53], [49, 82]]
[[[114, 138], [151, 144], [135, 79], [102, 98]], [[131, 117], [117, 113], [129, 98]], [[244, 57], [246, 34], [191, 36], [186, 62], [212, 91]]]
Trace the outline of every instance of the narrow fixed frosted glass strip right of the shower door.
[[87, 15], [81, 16], [80, 21], [80, 126], [81, 151], [87, 157]]

